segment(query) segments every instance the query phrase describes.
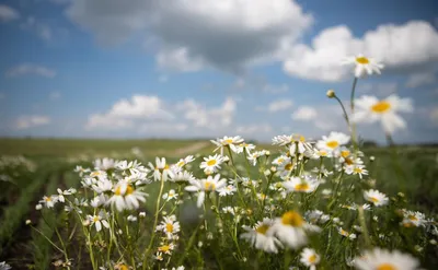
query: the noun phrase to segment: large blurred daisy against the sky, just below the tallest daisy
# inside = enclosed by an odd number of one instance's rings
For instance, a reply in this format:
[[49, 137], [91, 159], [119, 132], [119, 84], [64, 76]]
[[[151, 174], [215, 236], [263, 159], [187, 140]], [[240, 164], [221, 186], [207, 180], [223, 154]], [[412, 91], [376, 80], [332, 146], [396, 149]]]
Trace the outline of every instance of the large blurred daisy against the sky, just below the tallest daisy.
[[393, 133], [397, 129], [404, 129], [406, 122], [397, 113], [411, 113], [413, 110], [410, 98], [400, 98], [397, 95], [379, 101], [374, 96], [361, 96], [355, 101], [356, 110], [351, 116], [355, 122], [381, 121], [387, 133]]

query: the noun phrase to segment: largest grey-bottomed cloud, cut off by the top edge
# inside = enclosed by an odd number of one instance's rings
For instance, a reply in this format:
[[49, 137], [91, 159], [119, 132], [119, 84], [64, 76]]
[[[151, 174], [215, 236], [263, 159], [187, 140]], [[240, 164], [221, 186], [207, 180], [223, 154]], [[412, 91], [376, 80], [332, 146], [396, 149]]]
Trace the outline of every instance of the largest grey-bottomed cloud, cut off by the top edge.
[[177, 71], [241, 72], [280, 60], [313, 23], [291, 0], [78, 0], [67, 14], [101, 44], [148, 37], [159, 66]]

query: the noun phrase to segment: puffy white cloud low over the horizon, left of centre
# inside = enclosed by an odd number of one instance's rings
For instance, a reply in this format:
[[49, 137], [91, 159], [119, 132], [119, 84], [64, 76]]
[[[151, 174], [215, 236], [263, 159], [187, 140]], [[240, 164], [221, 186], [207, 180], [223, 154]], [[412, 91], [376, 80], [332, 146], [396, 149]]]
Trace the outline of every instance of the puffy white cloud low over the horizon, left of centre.
[[104, 114], [90, 116], [87, 128], [119, 129], [132, 127], [138, 119], [170, 120], [174, 116], [164, 108], [163, 102], [157, 96], [134, 95], [130, 99], [116, 102]]

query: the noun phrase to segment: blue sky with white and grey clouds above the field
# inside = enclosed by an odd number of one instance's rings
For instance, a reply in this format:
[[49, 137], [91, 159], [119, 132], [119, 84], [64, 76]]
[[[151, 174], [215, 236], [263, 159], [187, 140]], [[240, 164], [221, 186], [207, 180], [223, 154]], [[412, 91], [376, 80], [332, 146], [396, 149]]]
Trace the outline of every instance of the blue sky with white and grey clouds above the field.
[[[400, 143], [438, 142], [435, 0], [0, 0], [0, 137], [318, 138], [357, 97], [411, 98]], [[360, 136], [384, 141], [379, 124]]]

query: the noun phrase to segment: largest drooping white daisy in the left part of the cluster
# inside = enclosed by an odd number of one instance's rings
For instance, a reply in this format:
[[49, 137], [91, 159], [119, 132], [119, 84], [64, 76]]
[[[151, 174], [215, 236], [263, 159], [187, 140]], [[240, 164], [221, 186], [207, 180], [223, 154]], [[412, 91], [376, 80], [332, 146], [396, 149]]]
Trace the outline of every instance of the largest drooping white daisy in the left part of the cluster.
[[122, 212], [124, 209], [137, 209], [141, 202], [146, 201], [147, 193], [136, 190], [132, 185], [126, 181], [119, 181], [113, 189], [113, 196], [105, 204], [116, 206]]

